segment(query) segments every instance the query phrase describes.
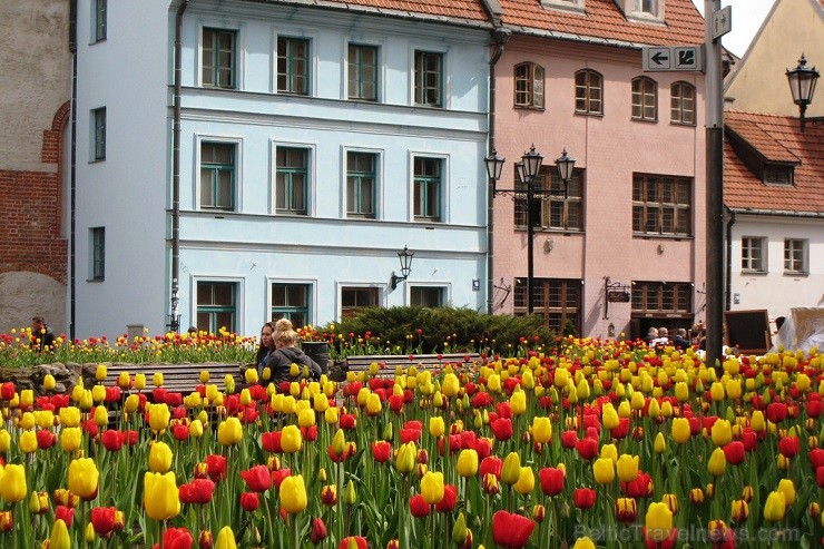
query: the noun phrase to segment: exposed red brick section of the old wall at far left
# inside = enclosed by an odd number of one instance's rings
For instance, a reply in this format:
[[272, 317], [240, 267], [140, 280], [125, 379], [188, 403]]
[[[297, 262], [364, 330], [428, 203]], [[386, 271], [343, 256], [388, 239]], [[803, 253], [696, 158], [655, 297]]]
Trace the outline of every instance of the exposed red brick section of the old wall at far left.
[[30, 271], [66, 284], [67, 241], [62, 237], [62, 136], [69, 101], [43, 130], [41, 159], [53, 171], [0, 169], [0, 273]]

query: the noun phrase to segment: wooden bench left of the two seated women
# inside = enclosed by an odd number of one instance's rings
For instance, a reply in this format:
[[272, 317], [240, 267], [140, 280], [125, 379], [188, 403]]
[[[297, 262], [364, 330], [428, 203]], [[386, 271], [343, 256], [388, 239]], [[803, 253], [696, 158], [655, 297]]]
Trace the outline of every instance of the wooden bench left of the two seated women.
[[121, 372], [127, 372], [131, 376], [131, 381], [135, 381], [135, 374], [146, 375], [146, 386], [144, 392], [151, 393], [155, 389], [153, 378], [155, 373], [163, 374], [163, 389], [169, 392], [179, 392], [184, 396], [196, 391], [197, 385], [202, 385], [200, 372], [204, 370], [209, 372], [208, 384], [217, 385], [218, 391], [226, 391], [226, 375], [229, 374], [235, 380], [235, 392], [246, 385], [243, 372], [245, 366], [239, 364], [222, 364], [222, 363], [206, 363], [206, 364], [128, 364], [128, 363], [111, 363], [106, 364], [107, 372], [106, 379], [102, 381], [97, 380], [97, 364], [86, 364], [82, 367], [82, 381], [84, 386], [91, 388], [97, 384], [107, 386], [117, 385], [117, 379]]

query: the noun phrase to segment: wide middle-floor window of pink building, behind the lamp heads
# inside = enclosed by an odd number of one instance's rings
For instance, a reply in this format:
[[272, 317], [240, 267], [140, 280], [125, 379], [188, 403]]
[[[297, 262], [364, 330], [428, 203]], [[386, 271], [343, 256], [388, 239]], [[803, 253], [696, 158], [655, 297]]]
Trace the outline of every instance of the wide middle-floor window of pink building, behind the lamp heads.
[[[516, 182], [518, 174], [516, 174]], [[516, 184], [514, 226], [527, 228], [527, 186]], [[536, 177], [534, 188], [541, 194], [532, 198], [532, 223], [538, 229], [583, 231], [583, 170], [572, 171], [565, 196], [563, 183], [555, 166], [542, 166]], [[548, 192], [548, 193], [547, 193]]]

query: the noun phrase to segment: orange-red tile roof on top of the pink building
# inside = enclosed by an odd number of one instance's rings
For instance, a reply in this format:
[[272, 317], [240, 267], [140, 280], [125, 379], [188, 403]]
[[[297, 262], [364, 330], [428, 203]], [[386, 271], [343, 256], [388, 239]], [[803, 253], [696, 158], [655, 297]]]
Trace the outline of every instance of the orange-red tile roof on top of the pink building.
[[[433, 0], [439, 2], [440, 0]], [[585, 0], [583, 13], [543, 8], [540, 0], [500, 0], [506, 26], [558, 38], [597, 38], [649, 46], [704, 43], [704, 18], [691, 0], [666, 0], [664, 23], [629, 21], [615, 0]]]

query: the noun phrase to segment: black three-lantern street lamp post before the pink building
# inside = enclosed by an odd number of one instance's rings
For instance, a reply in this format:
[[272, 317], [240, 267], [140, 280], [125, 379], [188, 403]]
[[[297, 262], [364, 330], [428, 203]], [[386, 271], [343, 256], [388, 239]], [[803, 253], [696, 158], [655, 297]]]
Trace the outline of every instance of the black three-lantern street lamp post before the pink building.
[[[522, 189], [499, 189], [496, 188], [494, 184], [501, 177], [503, 163], [506, 159], [500, 158], [497, 151], [484, 159], [487, 164], [487, 175], [492, 179], [492, 192], [494, 195], [499, 194], [511, 194], [513, 198], [517, 194], [522, 193]], [[528, 153], [524, 153], [521, 157], [521, 161], [516, 164], [518, 170], [518, 179], [521, 184], [527, 186], [527, 312], [532, 313], [534, 311], [534, 207], [533, 200], [534, 195], [551, 195], [551, 185], [548, 188], [537, 189], [534, 184], [538, 179], [538, 174], [541, 170], [541, 164], [543, 163], [543, 156], [534, 149], [534, 145], [529, 148]], [[575, 158], [567, 156], [567, 150], [560, 158], [556, 160], [558, 166], [558, 175], [563, 183], [563, 196], [567, 196], [567, 184], [572, 178], [572, 168], [575, 167]]]

